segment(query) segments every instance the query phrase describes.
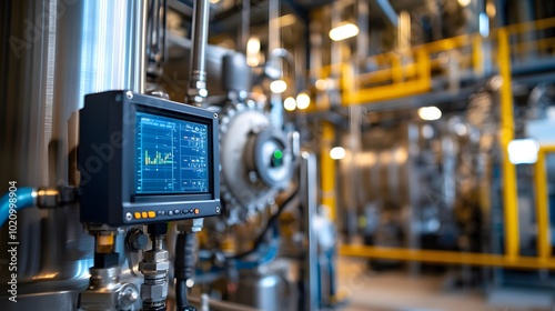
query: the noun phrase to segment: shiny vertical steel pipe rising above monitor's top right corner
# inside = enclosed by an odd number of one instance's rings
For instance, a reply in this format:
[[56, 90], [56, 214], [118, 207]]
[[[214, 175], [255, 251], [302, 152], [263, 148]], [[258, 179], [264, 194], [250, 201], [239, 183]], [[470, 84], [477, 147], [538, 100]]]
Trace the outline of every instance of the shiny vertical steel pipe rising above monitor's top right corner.
[[209, 26], [209, 0], [194, 1], [191, 71], [189, 73], [189, 89], [186, 91], [186, 103], [202, 106], [208, 96], [205, 54]]

